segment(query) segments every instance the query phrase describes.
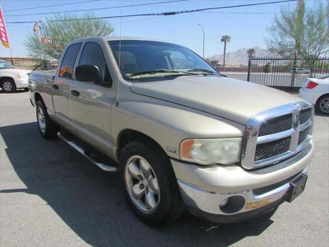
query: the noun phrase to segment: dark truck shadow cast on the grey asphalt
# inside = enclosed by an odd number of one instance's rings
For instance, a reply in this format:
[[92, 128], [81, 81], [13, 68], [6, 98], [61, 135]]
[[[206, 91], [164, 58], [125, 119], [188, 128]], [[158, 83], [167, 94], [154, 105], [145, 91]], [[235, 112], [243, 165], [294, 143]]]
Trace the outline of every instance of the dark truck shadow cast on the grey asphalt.
[[185, 214], [161, 228], [140, 222], [125, 202], [116, 173], [105, 173], [59, 139], [45, 140], [36, 122], [1, 127], [6, 153], [27, 189], [41, 197], [80, 238], [94, 246], [226, 246], [258, 236], [270, 215], [216, 224]]

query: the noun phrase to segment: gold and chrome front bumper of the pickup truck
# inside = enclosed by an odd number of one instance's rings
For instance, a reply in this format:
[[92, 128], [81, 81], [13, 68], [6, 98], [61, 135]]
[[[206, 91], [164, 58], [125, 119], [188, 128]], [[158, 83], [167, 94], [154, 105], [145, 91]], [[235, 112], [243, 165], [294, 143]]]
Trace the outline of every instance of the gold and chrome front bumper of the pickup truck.
[[[236, 165], [205, 167], [171, 162], [190, 213], [210, 221], [229, 223], [257, 217], [284, 202], [289, 182], [307, 174], [313, 154], [310, 142], [303, 151], [286, 160], [286, 166], [278, 164], [277, 170], [245, 171]], [[221, 208], [221, 202], [227, 198], [238, 199], [237, 207], [233, 205], [233, 210]]]

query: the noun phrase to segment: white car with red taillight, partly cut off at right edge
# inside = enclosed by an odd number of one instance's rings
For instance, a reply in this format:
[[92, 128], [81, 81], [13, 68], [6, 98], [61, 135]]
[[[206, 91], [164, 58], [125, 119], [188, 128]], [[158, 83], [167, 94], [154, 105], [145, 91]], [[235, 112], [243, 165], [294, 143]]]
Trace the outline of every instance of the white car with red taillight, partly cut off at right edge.
[[306, 78], [299, 90], [299, 97], [314, 104], [318, 112], [329, 114], [329, 74]]

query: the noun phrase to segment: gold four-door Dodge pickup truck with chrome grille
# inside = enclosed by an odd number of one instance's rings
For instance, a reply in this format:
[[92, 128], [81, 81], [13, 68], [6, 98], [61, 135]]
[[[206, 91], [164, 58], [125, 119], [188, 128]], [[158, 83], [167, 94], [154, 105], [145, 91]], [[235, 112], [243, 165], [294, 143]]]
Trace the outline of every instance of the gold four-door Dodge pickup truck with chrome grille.
[[275, 210], [305, 188], [312, 104], [224, 77], [190, 49], [92, 37], [65, 48], [55, 75], [32, 72], [40, 133], [119, 172], [139, 219], [186, 209], [214, 222]]

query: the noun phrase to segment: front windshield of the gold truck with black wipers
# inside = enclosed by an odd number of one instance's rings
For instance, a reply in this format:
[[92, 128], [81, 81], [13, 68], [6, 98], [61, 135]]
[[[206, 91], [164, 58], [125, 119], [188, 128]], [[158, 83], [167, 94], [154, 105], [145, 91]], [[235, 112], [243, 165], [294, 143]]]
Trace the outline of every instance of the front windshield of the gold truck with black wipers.
[[[119, 64], [120, 41], [108, 41]], [[120, 70], [126, 80], [220, 75], [190, 49], [166, 42], [121, 40]]]

